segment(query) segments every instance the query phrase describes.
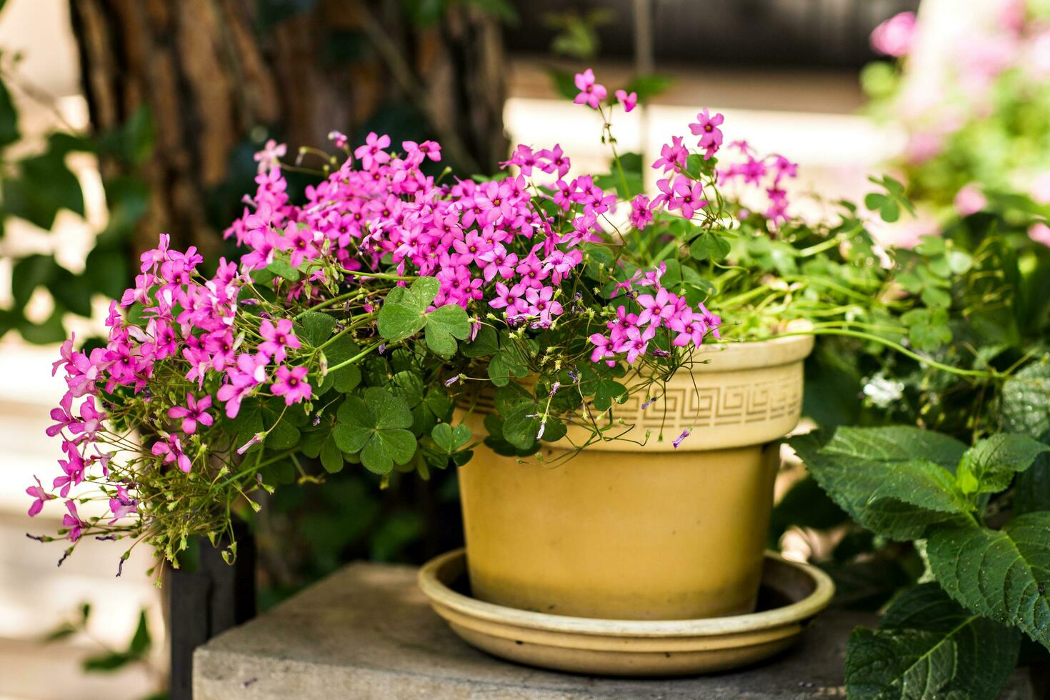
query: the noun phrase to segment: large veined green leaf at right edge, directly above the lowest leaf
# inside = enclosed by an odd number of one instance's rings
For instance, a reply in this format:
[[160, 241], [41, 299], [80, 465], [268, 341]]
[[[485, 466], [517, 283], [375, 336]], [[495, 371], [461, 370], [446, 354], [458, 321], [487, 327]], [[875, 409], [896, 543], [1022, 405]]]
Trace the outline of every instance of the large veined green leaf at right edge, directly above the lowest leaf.
[[1021, 515], [1002, 530], [936, 528], [926, 553], [952, 598], [1050, 649], [1050, 511]]

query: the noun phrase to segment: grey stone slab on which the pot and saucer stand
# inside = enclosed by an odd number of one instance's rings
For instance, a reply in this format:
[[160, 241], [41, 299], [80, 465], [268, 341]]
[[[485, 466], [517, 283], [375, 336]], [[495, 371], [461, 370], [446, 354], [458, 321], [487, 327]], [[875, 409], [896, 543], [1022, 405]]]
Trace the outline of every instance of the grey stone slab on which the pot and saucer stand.
[[[194, 700], [788, 700], [844, 697], [849, 632], [874, 616], [827, 612], [799, 648], [697, 678], [611, 679], [497, 660], [461, 641], [416, 588], [416, 569], [353, 564], [219, 635], [193, 657]], [[1027, 672], [1004, 698], [1034, 698]]]

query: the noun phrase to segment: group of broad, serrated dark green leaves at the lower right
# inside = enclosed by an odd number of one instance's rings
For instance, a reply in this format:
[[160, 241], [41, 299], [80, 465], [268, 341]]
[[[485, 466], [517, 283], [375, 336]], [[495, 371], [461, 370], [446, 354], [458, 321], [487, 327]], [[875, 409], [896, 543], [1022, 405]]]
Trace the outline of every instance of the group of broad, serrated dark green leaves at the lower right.
[[[1021, 433], [971, 447], [917, 427], [839, 427], [793, 438], [814, 479], [858, 524], [887, 539], [926, 542], [937, 585], [901, 595], [878, 631], [849, 639], [857, 697], [995, 698], [1021, 634], [1050, 649], [1050, 511], [1010, 514], [1003, 495], [1050, 453]], [[995, 527], [989, 525], [995, 522]]]

